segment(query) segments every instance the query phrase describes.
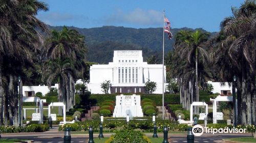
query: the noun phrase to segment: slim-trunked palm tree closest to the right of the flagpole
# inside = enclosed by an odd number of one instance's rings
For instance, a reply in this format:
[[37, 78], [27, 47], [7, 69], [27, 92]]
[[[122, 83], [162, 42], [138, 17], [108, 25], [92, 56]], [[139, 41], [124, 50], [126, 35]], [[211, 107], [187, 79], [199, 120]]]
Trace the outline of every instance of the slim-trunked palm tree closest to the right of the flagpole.
[[[195, 63], [195, 101], [199, 101], [198, 60], [199, 57], [203, 62], [208, 59], [208, 54], [202, 47], [203, 43], [206, 42], [208, 38], [209, 33], [201, 32], [199, 30], [196, 30], [195, 32], [182, 30], [177, 33], [174, 45], [176, 50], [179, 51], [181, 58], [187, 58], [186, 60], [190, 65], [194, 65]], [[193, 84], [194, 82], [191, 83]], [[198, 109], [196, 110], [196, 113], [198, 113]]]

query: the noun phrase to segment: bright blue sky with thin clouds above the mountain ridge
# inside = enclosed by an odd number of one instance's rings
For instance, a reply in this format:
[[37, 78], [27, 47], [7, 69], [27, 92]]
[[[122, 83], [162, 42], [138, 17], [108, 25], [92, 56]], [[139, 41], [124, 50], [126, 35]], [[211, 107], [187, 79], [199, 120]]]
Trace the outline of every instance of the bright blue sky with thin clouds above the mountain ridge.
[[[42, 0], [41, 0], [42, 1]], [[231, 7], [242, 0], [43, 0], [49, 11], [37, 17], [51, 26], [94, 28], [123, 26], [159, 28], [163, 25], [163, 10], [172, 28], [203, 28], [219, 31], [224, 17], [231, 16]]]

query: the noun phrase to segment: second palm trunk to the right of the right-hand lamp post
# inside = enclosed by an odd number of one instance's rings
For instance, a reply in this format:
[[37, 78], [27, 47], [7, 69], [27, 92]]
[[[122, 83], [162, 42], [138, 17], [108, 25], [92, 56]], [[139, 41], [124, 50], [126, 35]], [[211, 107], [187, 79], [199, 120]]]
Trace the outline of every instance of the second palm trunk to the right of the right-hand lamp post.
[[246, 68], [242, 67], [242, 125], [247, 124], [246, 120]]

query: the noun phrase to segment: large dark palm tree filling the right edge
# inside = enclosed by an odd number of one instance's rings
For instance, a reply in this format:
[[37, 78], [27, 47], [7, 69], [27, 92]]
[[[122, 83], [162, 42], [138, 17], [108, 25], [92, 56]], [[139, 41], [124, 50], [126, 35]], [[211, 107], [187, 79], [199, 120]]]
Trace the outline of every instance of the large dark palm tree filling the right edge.
[[[225, 58], [220, 66], [221, 73], [229, 73], [230, 76], [237, 75], [238, 77], [238, 107], [241, 108], [238, 110], [238, 114], [241, 115], [239, 122], [243, 125], [256, 124], [256, 103], [253, 100], [256, 98], [256, 1], [245, 1], [240, 9], [232, 8], [232, 13], [233, 16], [225, 18], [221, 23], [221, 32], [218, 35], [219, 44], [215, 52], [222, 52], [225, 55], [217, 56], [215, 61]], [[228, 64], [229, 69], [224, 67]], [[226, 78], [230, 79], [230, 76]]]

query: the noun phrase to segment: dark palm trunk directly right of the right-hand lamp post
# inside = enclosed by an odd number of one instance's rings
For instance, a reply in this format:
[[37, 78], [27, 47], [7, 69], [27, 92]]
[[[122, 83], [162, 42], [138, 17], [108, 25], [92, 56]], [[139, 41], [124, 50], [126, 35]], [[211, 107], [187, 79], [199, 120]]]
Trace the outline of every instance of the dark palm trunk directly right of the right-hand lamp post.
[[237, 96], [238, 96], [238, 125], [242, 124], [242, 96], [241, 96], [241, 77], [238, 76], [237, 81]]

